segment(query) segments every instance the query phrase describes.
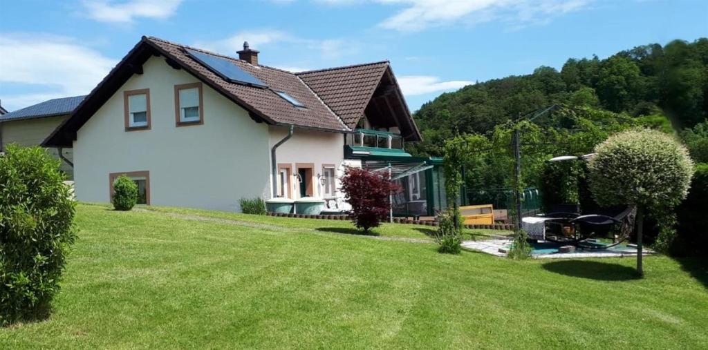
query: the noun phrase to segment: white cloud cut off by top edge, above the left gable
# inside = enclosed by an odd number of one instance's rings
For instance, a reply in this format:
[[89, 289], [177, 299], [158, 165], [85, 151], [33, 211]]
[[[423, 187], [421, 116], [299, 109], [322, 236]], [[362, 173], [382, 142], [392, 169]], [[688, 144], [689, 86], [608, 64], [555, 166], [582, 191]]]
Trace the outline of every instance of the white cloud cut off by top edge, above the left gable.
[[137, 17], [166, 19], [177, 11], [182, 0], [84, 0], [88, 16], [99, 22], [132, 23]]

